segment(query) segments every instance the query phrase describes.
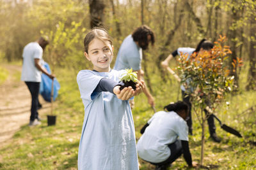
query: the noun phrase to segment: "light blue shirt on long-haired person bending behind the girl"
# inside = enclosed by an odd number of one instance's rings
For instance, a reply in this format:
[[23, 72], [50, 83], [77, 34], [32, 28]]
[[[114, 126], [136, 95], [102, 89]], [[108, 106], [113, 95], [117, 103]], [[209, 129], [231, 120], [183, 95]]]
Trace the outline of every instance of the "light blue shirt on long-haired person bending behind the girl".
[[114, 69], [140, 70], [142, 60], [142, 49], [132, 39], [132, 35], [127, 36], [120, 46]]

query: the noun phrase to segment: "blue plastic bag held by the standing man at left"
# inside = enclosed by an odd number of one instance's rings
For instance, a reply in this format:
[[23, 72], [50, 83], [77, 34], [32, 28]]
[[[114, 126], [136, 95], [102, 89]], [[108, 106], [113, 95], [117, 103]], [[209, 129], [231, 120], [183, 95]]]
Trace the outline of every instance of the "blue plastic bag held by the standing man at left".
[[[48, 73], [51, 74], [50, 66], [47, 62], [44, 62], [44, 67]], [[51, 90], [52, 90], [52, 80], [46, 74], [42, 73], [42, 81], [40, 83], [40, 94], [45, 101], [51, 102]], [[53, 82], [53, 101], [55, 101], [58, 96], [58, 90], [60, 90], [60, 83], [54, 78]]]

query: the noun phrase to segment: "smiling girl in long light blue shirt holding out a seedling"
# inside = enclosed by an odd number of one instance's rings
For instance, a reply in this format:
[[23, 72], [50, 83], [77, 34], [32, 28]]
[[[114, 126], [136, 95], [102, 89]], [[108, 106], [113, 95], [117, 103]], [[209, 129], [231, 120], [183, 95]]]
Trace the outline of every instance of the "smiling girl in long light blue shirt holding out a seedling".
[[77, 84], [84, 104], [84, 122], [79, 143], [78, 169], [138, 169], [134, 122], [128, 100], [140, 94], [136, 89], [120, 90], [124, 70], [110, 68], [112, 40], [101, 28], [92, 29], [84, 38], [84, 55], [93, 70], [81, 70]]

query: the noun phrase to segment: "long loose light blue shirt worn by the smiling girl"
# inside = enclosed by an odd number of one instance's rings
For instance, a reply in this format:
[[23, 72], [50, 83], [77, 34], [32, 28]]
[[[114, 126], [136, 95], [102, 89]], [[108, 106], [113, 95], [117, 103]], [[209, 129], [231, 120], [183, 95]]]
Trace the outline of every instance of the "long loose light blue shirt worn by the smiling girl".
[[78, 169], [138, 170], [134, 122], [129, 101], [111, 92], [93, 92], [102, 78], [119, 81], [124, 71], [82, 70], [77, 84], [84, 104]]

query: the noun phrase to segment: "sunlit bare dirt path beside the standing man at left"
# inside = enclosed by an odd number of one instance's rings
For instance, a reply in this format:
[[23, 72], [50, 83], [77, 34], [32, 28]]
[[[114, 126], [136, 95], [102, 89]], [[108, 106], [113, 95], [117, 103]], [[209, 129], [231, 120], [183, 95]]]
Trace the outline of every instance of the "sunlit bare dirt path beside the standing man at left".
[[[2, 65], [8, 70], [7, 80], [0, 85], [0, 146], [8, 143], [22, 125], [29, 123], [31, 96], [28, 87], [19, 80], [21, 66]], [[18, 76], [17, 76], [18, 75]], [[42, 117], [51, 110], [51, 104], [39, 98], [43, 108], [38, 111]], [[43, 117], [44, 118], [44, 117]]]

